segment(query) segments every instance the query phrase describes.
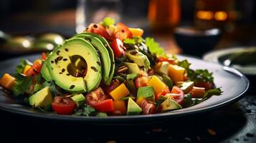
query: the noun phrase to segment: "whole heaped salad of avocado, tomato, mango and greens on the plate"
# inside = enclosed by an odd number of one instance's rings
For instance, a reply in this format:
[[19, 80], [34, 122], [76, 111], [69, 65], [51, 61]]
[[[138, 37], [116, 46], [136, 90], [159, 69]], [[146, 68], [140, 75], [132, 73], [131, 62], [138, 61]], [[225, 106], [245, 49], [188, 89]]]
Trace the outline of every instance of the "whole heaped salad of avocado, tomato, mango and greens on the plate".
[[97, 117], [169, 112], [222, 94], [207, 69], [189, 69], [142, 36], [107, 17], [34, 61], [22, 59], [0, 85], [42, 112]]

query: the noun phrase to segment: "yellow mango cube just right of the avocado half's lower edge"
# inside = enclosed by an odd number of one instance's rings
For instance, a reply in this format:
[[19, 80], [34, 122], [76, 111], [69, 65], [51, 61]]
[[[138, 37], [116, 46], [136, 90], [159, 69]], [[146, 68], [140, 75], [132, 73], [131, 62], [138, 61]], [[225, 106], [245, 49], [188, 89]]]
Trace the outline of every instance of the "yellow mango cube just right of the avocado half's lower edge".
[[114, 89], [112, 92], [110, 92], [110, 96], [114, 100], [119, 100], [123, 97], [126, 97], [128, 94], [130, 94], [127, 87], [125, 87], [125, 84], [120, 84], [116, 89]]

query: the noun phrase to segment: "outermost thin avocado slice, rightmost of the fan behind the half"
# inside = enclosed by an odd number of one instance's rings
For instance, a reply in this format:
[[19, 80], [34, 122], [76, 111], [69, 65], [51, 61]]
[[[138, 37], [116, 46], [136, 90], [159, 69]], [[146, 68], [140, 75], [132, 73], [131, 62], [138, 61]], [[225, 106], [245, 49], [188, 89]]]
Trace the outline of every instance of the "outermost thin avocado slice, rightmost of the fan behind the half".
[[73, 37], [80, 37], [80, 36], [83, 36], [83, 35], [89, 35], [89, 36], [93, 36], [93, 37], [99, 39], [102, 42], [102, 44], [105, 46], [105, 49], [108, 50], [108, 55], [110, 57], [110, 72], [109, 72], [109, 75], [108, 75], [108, 80], [105, 81], [105, 84], [109, 85], [110, 82], [112, 81], [114, 71], [115, 71], [115, 56], [114, 56], [113, 50], [109, 46], [108, 41], [106, 39], [104, 39], [103, 36], [100, 36], [98, 34], [81, 33], [81, 34], [77, 34]]

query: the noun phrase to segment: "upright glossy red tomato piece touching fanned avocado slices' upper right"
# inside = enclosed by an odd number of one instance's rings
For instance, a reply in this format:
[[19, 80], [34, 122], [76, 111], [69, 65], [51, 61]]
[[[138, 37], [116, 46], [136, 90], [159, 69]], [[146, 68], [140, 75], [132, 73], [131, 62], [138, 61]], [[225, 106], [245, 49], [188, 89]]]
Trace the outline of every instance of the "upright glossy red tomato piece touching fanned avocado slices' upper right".
[[112, 41], [111, 49], [113, 49], [115, 58], [125, 56], [125, 47], [123, 46], [123, 41], [121, 41], [120, 39], [117, 38]]

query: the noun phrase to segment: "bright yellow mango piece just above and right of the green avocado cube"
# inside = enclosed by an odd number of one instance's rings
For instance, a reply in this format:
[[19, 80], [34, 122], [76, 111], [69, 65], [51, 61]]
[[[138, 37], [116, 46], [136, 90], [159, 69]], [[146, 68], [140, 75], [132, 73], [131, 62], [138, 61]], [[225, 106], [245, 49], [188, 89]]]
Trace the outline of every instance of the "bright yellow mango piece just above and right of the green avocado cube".
[[158, 77], [152, 76], [151, 79], [148, 82], [149, 86], [153, 87], [153, 90], [155, 94], [158, 94], [163, 91], [163, 89], [166, 88], [166, 84], [164, 84]]

